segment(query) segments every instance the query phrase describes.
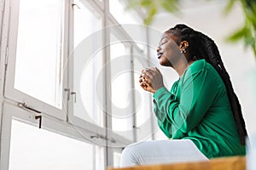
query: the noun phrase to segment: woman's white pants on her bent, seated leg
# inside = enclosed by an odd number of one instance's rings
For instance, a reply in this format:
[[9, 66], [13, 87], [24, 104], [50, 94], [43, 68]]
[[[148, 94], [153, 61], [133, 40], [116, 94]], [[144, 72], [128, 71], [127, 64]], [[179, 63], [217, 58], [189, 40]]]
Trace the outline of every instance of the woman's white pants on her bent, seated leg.
[[153, 140], [125, 147], [120, 167], [207, 160], [189, 139]]

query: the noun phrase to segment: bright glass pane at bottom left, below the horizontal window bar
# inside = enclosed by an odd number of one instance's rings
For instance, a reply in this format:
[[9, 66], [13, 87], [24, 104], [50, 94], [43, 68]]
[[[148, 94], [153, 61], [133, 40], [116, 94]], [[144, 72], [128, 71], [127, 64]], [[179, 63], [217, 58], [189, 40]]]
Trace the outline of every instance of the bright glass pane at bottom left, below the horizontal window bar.
[[9, 170], [102, 170], [104, 160], [97, 155], [102, 148], [94, 144], [12, 121]]

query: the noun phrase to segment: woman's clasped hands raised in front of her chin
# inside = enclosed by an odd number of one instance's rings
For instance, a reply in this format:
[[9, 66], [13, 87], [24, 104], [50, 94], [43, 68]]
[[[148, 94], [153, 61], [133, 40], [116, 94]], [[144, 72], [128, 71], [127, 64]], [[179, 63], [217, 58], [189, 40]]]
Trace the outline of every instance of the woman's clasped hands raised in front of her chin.
[[163, 77], [156, 67], [143, 70], [139, 82], [144, 90], [153, 94], [164, 87]]

